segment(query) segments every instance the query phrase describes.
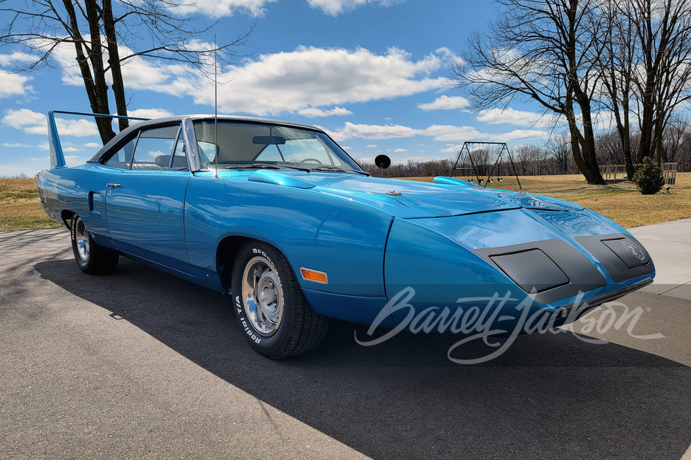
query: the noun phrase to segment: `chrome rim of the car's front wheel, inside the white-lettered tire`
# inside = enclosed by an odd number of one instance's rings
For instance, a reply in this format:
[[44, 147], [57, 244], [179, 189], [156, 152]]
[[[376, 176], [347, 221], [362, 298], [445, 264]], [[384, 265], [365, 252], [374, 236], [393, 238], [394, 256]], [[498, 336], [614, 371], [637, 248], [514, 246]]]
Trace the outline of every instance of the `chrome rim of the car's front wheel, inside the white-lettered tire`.
[[254, 257], [245, 266], [243, 304], [256, 332], [264, 337], [276, 332], [283, 314], [281, 279], [264, 257]]

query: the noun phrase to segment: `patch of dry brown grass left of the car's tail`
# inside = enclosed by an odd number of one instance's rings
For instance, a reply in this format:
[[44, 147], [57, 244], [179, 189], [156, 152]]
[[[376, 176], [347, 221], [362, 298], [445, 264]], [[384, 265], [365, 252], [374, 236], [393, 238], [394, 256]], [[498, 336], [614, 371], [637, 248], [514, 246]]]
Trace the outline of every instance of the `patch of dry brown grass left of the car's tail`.
[[41, 208], [37, 179], [0, 179], [0, 230], [59, 228]]

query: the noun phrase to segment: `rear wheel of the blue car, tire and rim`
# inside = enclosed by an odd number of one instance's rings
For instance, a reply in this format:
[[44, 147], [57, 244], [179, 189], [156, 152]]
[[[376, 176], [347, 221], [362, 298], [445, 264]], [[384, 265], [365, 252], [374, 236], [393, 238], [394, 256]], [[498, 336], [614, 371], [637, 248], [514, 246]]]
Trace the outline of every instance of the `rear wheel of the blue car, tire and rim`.
[[75, 261], [82, 272], [103, 274], [111, 272], [117, 266], [120, 255], [95, 243], [78, 214], [73, 214], [70, 219], [70, 237]]

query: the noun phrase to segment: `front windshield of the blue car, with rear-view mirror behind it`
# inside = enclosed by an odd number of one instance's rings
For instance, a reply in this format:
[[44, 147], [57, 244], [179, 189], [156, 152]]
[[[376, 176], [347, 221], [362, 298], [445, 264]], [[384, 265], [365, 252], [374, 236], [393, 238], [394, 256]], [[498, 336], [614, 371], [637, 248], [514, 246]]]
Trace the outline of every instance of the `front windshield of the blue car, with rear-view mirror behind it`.
[[202, 168], [299, 168], [361, 172], [339, 146], [321, 132], [218, 121], [218, 146], [214, 143], [214, 121], [194, 123]]

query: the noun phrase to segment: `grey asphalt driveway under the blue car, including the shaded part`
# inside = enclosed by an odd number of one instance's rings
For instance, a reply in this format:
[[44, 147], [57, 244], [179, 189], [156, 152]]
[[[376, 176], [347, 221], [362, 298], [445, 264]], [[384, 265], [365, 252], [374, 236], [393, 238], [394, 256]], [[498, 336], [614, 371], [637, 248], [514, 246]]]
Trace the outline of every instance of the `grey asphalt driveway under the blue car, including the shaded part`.
[[[447, 359], [457, 337], [363, 347], [341, 321], [312, 352], [264, 359], [223, 294], [128, 259], [82, 274], [66, 230], [0, 233], [0, 458], [679, 459], [691, 219], [670, 223], [674, 245], [665, 225], [634, 229], [658, 290], [476, 366]], [[637, 320], [607, 328], [607, 308]]]

